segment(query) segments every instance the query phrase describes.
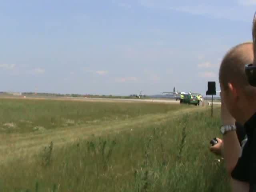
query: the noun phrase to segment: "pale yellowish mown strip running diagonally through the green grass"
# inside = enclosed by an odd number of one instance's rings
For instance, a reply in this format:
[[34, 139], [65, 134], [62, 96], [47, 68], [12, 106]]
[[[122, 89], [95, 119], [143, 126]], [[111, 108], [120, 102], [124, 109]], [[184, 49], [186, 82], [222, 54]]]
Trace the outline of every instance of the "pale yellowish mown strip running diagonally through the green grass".
[[46, 130], [44, 132], [31, 132], [28, 134], [1, 134], [0, 135], [0, 164], [6, 163], [17, 157], [30, 159], [39, 150], [54, 142], [54, 148], [64, 146], [78, 139], [86, 139], [102, 134], [112, 134], [121, 131], [131, 131], [138, 129], [145, 124], [152, 125], [177, 118], [181, 114], [206, 110], [207, 107], [192, 107], [182, 110], [168, 112], [166, 114], [148, 114], [127, 120], [115, 120], [99, 122], [94, 125], [70, 126], [68, 128], [58, 128]]

